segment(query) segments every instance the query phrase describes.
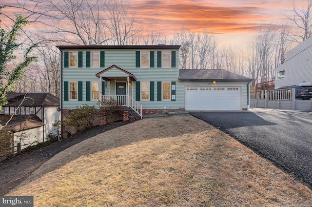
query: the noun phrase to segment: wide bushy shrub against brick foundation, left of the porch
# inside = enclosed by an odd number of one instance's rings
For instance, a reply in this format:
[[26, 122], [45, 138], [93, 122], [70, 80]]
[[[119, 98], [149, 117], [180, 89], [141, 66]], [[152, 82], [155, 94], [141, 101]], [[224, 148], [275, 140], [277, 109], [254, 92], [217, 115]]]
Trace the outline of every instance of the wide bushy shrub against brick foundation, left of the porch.
[[93, 120], [95, 115], [95, 106], [83, 104], [76, 106], [76, 110], [71, 112], [66, 118], [66, 126], [74, 126], [77, 131], [83, 128], [93, 127]]

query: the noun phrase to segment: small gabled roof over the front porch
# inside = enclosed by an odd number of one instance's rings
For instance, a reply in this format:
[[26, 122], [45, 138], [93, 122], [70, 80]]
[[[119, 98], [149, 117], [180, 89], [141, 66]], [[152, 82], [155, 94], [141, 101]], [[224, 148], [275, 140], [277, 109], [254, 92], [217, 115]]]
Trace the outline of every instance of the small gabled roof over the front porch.
[[116, 65], [112, 65], [105, 70], [102, 70], [96, 74], [96, 77], [102, 77], [106, 81], [110, 81], [111, 79], [118, 77], [129, 77], [132, 81], [137, 81], [137, 78], [132, 73], [129, 73]]

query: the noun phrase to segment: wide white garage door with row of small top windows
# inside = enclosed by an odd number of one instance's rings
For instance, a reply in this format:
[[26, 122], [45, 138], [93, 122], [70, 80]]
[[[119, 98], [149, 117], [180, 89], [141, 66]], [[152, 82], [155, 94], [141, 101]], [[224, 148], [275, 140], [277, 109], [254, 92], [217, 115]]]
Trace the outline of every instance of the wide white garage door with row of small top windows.
[[185, 86], [185, 110], [241, 110], [241, 86]]

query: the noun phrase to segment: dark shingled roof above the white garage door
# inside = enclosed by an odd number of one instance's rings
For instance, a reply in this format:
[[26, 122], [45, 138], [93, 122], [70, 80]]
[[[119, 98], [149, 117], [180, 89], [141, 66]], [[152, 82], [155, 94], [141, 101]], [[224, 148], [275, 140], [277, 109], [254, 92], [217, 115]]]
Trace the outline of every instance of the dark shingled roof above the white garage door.
[[227, 82], [239, 82], [239, 81], [252, 81], [253, 79], [232, 73], [227, 70], [220, 69], [180, 69], [181, 81], [227, 81]]

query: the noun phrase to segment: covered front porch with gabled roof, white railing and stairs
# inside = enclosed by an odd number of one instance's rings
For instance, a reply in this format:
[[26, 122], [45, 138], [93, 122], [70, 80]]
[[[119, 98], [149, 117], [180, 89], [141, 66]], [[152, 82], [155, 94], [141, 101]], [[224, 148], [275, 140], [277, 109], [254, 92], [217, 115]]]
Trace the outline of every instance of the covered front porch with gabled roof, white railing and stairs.
[[112, 65], [96, 76], [100, 79], [101, 101], [117, 100], [122, 106], [134, 110], [142, 119], [142, 104], [134, 99], [134, 82], [137, 78], [133, 74]]

